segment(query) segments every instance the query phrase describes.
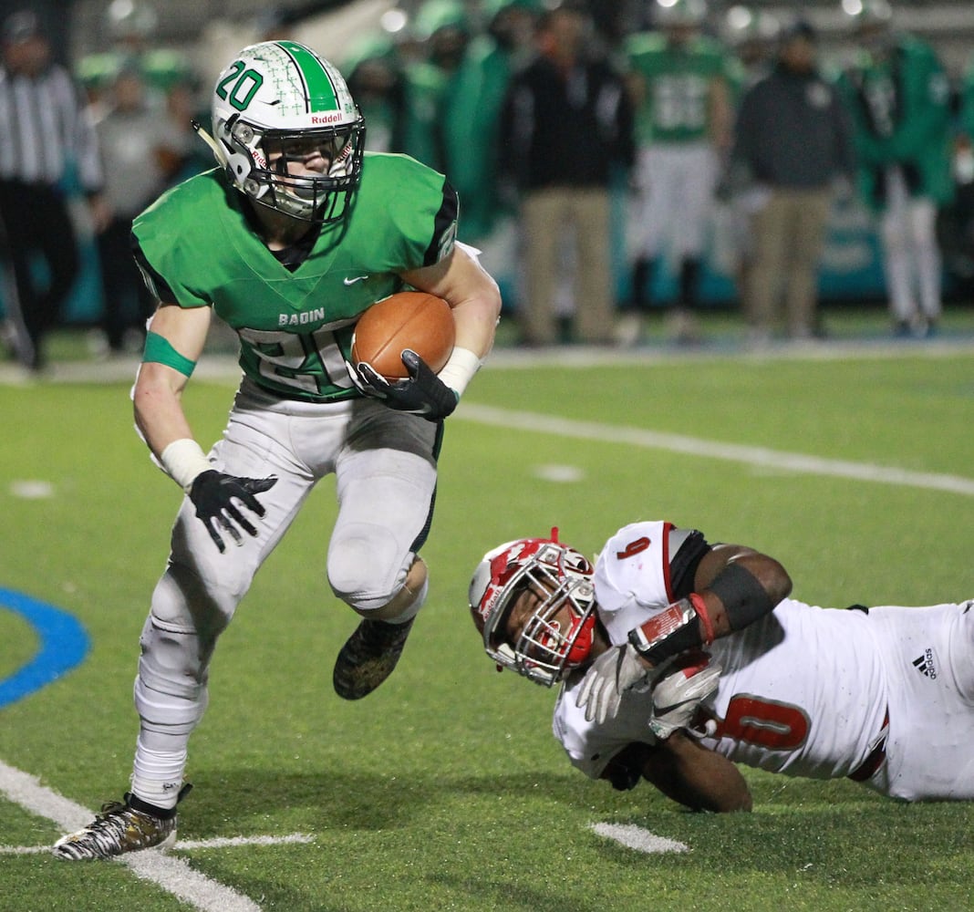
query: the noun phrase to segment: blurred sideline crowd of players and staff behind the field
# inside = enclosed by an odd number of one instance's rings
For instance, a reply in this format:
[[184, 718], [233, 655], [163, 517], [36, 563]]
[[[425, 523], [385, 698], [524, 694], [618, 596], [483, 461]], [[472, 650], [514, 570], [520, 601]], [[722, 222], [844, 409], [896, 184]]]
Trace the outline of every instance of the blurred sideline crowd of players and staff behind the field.
[[[348, 79], [367, 148], [443, 171], [460, 239], [543, 347], [828, 334], [823, 302], [935, 334], [974, 300], [974, 15], [964, 2], [0, 2], [0, 338], [140, 350], [131, 218], [213, 166], [220, 70], [292, 38]], [[0, 358], [4, 357], [0, 347]]]

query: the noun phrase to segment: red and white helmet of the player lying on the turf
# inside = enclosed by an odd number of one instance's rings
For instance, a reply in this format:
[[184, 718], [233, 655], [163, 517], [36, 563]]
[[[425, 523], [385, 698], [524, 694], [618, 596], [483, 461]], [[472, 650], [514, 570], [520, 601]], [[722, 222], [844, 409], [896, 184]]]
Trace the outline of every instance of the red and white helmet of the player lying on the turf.
[[[579, 551], [549, 539], [517, 539], [488, 551], [470, 581], [473, 623], [483, 635], [484, 649], [499, 668], [551, 687], [581, 665], [592, 647], [595, 588], [592, 565]], [[541, 600], [516, 643], [505, 640], [504, 625], [511, 605], [525, 589]], [[567, 606], [567, 630], [555, 618]]]

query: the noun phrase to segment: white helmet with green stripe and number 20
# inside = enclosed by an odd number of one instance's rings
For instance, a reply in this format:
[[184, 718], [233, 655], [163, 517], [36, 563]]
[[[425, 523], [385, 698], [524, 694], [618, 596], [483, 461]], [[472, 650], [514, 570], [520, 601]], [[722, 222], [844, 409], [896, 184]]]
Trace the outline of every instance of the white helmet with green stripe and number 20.
[[[344, 216], [361, 177], [365, 121], [331, 63], [295, 41], [251, 45], [218, 77], [211, 107], [213, 152], [250, 200], [302, 221]], [[311, 149], [328, 170], [290, 175], [288, 153]]]

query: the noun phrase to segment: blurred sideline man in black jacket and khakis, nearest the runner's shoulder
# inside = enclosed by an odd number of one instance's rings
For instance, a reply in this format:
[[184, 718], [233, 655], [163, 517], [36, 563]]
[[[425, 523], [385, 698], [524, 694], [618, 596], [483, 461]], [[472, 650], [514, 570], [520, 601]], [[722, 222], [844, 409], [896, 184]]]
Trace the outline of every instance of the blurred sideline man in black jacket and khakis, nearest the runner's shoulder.
[[538, 53], [511, 81], [500, 170], [516, 187], [525, 267], [523, 341], [557, 341], [564, 244], [574, 242], [575, 336], [613, 341], [609, 186], [633, 160], [632, 110], [618, 73], [588, 58], [586, 15], [572, 4], [538, 23]]

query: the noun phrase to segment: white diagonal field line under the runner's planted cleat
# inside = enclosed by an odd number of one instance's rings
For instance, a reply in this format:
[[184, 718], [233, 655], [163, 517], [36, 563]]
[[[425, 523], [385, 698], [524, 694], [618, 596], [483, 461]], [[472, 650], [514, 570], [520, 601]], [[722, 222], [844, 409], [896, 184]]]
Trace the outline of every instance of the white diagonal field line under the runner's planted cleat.
[[[42, 785], [36, 777], [8, 766], [2, 760], [0, 760], [0, 792], [25, 811], [37, 817], [46, 817], [66, 831], [80, 829], [90, 823], [94, 817], [88, 808], [58, 795], [56, 791]], [[19, 855], [33, 851], [33, 847], [12, 848], [13, 851], [9, 854]], [[47, 851], [46, 847], [44, 851]], [[149, 850], [122, 855], [118, 861], [126, 865], [136, 877], [162, 887], [163, 890], [178, 896], [202, 912], [260, 912], [260, 906], [252, 899], [206, 877], [199, 871], [194, 871], [182, 858]], [[65, 861], [63, 863], [85, 862]]]

